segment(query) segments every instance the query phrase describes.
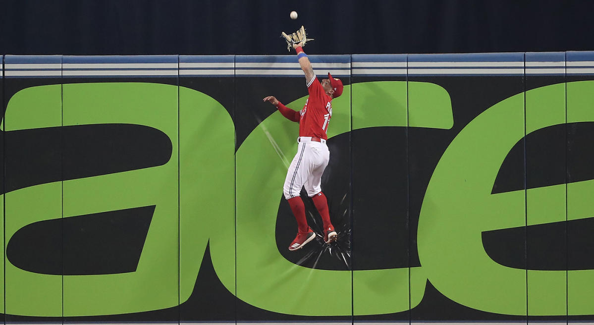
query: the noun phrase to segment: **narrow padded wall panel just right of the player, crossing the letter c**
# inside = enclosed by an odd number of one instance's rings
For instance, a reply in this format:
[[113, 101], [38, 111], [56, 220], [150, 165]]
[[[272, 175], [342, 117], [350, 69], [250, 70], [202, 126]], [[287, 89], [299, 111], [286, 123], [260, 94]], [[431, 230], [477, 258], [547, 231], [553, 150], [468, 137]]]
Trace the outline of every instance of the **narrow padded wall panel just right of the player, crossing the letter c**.
[[409, 322], [406, 55], [352, 55], [353, 314]]

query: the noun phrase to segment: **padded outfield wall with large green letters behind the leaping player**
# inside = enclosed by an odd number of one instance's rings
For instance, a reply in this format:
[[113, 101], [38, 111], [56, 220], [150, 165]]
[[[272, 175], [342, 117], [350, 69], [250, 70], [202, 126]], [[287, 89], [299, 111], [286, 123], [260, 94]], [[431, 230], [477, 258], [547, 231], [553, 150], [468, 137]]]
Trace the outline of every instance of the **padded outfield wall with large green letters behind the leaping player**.
[[5, 323], [594, 323], [594, 52], [309, 58], [289, 252], [295, 56], [5, 55]]

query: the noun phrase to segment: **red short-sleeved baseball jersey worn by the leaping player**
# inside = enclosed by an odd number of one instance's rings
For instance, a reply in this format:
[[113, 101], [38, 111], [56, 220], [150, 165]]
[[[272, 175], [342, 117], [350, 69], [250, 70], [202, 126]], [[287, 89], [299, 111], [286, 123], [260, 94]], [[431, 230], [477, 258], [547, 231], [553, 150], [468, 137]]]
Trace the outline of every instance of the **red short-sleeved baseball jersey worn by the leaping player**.
[[326, 94], [318, 78], [309, 81], [309, 97], [299, 112], [299, 137], [318, 137], [327, 140], [326, 131], [332, 117], [332, 97]]

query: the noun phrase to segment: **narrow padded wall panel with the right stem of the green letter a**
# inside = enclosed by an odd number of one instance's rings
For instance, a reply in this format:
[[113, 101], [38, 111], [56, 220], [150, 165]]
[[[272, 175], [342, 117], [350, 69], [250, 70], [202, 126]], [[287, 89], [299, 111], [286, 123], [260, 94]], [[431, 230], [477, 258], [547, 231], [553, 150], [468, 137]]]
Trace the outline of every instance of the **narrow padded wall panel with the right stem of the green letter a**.
[[234, 77], [235, 56], [179, 56], [182, 323], [235, 323]]

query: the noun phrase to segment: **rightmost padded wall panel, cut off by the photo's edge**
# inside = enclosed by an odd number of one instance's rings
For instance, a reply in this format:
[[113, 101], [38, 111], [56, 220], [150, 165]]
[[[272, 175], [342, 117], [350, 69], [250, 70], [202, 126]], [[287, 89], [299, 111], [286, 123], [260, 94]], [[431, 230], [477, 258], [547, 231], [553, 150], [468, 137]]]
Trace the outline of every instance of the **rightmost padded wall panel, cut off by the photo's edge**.
[[592, 321], [592, 132], [594, 52], [567, 52], [567, 314]]

